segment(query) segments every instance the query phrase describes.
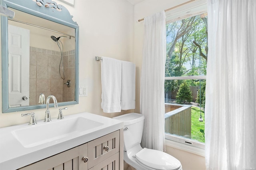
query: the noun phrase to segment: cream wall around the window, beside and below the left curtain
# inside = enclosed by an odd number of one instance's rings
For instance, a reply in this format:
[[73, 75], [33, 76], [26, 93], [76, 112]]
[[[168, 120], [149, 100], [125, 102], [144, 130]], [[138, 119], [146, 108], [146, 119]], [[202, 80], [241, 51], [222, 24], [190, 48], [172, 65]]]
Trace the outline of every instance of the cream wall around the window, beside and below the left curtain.
[[[188, 0], [144, 0], [134, 6], [134, 58], [136, 63], [136, 109], [140, 112], [140, 70], [142, 66], [142, 47], [144, 36], [144, 21], [138, 22], [146, 16], [150, 16], [156, 12], [172, 8], [178, 4], [187, 2]], [[203, 156], [198, 156], [190, 152], [186, 152], [177, 148], [166, 146], [166, 152], [180, 160], [183, 170], [205, 170], [205, 160]]]

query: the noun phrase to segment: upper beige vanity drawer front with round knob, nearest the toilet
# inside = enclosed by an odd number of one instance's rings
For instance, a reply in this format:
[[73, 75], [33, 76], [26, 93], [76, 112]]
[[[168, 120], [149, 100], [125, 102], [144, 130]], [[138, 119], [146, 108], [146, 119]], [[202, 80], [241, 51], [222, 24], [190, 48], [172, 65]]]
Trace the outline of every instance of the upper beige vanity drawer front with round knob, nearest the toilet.
[[88, 142], [88, 169], [119, 152], [120, 131]]

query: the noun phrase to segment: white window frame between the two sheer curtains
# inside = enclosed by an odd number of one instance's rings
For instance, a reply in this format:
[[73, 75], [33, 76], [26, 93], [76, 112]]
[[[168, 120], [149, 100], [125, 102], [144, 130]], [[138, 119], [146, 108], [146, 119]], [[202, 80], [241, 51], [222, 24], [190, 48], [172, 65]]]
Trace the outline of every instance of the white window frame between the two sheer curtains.
[[[207, 12], [207, 1], [198, 0], [166, 12], [166, 24], [203, 14]], [[206, 76], [172, 76], [165, 77], [164, 80], [206, 80]], [[165, 133], [166, 146], [171, 146], [200, 156], [204, 156], [205, 144], [193, 139], [184, 138]]]

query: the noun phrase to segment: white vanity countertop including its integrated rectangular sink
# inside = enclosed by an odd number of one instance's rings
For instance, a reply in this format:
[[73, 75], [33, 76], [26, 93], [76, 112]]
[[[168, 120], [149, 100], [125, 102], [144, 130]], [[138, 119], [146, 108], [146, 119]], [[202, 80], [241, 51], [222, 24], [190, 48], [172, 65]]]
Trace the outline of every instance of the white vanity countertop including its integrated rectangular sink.
[[0, 128], [0, 169], [18, 169], [120, 130], [123, 122], [82, 112]]

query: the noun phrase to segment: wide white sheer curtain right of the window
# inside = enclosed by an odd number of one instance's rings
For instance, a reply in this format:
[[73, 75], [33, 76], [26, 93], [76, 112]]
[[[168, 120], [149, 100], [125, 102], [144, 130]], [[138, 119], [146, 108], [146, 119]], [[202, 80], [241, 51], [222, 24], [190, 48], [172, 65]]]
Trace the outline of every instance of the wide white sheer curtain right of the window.
[[208, 0], [208, 170], [256, 168], [256, 1]]

